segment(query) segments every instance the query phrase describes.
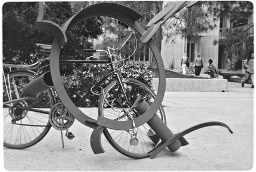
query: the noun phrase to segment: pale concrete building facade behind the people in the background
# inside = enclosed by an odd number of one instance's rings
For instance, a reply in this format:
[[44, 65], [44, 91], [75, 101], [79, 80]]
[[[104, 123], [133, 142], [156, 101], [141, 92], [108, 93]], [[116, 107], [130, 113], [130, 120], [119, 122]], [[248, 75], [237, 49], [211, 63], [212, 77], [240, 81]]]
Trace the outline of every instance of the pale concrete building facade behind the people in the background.
[[179, 34], [172, 37], [163, 35], [161, 55], [164, 67], [170, 69], [174, 65], [175, 69], [181, 69], [180, 62], [184, 53], [188, 54], [191, 63], [193, 63], [197, 54], [200, 53], [205, 66], [208, 64], [208, 60], [212, 59], [217, 69], [228, 69], [227, 59], [230, 58], [232, 69], [241, 69], [242, 57], [236, 57], [234, 54], [229, 57], [230, 54], [218, 42], [221, 39], [226, 39], [226, 31], [232, 30], [234, 27], [242, 27], [244, 32], [254, 36], [253, 11], [247, 11], [246, 14], [247, 19], [237, 21], [238, 23], [240, 22], [238, 25], [235, 25], [228, 17], [220, 18], [216, 21], [216, 27], [213, 30], [201, 33], [200, 36], [192, 40], [181, 37]]

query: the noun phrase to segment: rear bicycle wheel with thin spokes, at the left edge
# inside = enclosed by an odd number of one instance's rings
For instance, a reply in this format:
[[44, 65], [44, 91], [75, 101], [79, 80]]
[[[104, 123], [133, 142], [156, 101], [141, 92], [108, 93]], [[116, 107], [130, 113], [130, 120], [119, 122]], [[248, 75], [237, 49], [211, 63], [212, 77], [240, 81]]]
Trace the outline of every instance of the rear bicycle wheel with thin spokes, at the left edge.
[[[15, 70], [7, 73], [5, 75], [5, 79], [3, 79], [3, 102], [6, 102], [8, 99], [6, 86], [9, 93], [12, 93], [12, 99], [14, 100], [17, 98], [15, 91], [13, 90], [13, 79], [15, 81], [18, 94], [20, 98], [22, 98], [23, 86], [32, 81], [34, 74], [35, 73], [30, 70]], [[8, 79], [10, 82], [8, 82]], [[39, 100], [43, 103], [40, 107], [38, 105]], [[35, 98], [3, 106], [3, 145], [11, 149], [28, 148], [41, 141], [47, 135], [49, 129], [51, 129], [48, 114], [41, 114], [39, 112], [21, 109], [15, 110], [15, 106], [50, 109], [54, 103], [55, 99], [53, 98], [52, 91], [46, 90], [38, 94]], [[11, 117], [11, 114], [13, 117]], [[16, 120], [15, 124], [12, 122], [14, 118]]]

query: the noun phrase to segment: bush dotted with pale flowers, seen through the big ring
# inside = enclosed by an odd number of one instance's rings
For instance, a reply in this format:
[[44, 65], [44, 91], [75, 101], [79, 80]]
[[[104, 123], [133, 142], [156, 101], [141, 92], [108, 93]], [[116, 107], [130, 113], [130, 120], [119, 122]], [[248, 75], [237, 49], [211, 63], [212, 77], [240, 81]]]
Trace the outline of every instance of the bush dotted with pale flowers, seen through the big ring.
[[[64, 87], [73, 101], [76, 104], [85, 94], [89, 93], [90, 89], [98, 83], [107, 73], [111, 71], [109, 65], [105, 64], [84, 64], [76, 70], [75, 74], [69, 77], [63, 77]], [[119, 70], [123, 78], [134, 78], [145, 83], [152, 89], [153, 74], [147, 69], [146, 64], [131, 64], [125, 65]], [[110, 75], [100, 85], [104, 89], [110, 82], [115, 80], [114, 75]], [[98, 88], [94, 91], [94, 95], [91, 94], [84, 100], [79, 107], [97, 107], [98, 99], [100, 98], [101, 89]]]

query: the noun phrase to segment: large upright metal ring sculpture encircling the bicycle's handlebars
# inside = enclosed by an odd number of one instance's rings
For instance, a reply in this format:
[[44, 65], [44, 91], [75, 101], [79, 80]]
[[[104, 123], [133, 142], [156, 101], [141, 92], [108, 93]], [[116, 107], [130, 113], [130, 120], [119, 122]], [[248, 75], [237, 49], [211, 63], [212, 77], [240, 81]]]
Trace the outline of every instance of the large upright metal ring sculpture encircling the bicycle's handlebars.
[[[77, 23], [81, 22], [82, 20], [92, 18], [94, 16], [109, 16], [128, 24], [141, 35], [145, 32], [143, 27], [141, 27], [137, 22], [135, 22], [136, 20], [141, 18], [140, 14], [138, 14], [134, 10], [129, 9], [128, 7], [114, 3], [98, 3], [96, 5], [86, 7], [85, 9], [81, 10], [76, 15], [68, 19], [67, 22], [65, 22], [63, 26], [61, 26], [61, 30], [64, 33], [67, 33]], [[160, 56], [159, 50], [152, 39], [150, 39], [147, 42], [147, 44], [151, 48], [151, 51], [154, 53], [156, 63], [158, 65], [159, 88], [158, 93], [156, 94], [156, 99], [152, 106], [148, 109], [147, 112], [142, 114], [141, 117], [134, 120], [136, 126], [140, 126], [146, 123], [148, 120], [152, 118], [152, 116], [155, 115], [156, 111], [158, 111], [159, 107], [162, 104], [166, 86], [164, 64]], [[64, 89], [59, 70], [60, 47], [60, 40], [58, 40], [58, 37], [55, 37], [55, 40], [53, 40], [52, 44], [50, 61], [53, 85], [55, 86], [55, 89], [61, 99], [61, 102], [63, 102], [64, 106], [71, 112], [71, 114], [73, 114], [76, 117], [76, 119], [79, 120], [81, 123], [85, 125], [90, 125], [86, 123], [86, 121], [93, 119], [86, 116], [83, 112], [79, 110], [79, 108], [76, 107], [76, 105], [72, 102], [66, 90]], [[104, 117], [99, 117], [97, 120], [97, 124], [117, 130], [131, 129], [133, 126], [131, 123], [131, 121], [116, 121]]]

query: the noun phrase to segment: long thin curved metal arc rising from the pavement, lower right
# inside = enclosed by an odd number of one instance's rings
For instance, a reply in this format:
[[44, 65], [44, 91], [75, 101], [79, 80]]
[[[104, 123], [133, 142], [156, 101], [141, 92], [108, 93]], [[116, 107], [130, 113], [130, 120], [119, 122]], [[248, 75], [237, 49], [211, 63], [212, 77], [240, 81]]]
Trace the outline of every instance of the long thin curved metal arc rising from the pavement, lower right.
[[175, 142], [176, 140], [180, 139], [181, 137], [187, 135], [188, 133], [192, 132], [192, 131], [195, 131], [197, 129], [200, 129], [200, 128], [204, 128], [204, 127], [209, 127], [209, 126], [214, 126], [214, 125], [217, 125], [217, 126], [221, 126], [221, 127], [225, 127], [229, 130], [230, 133], [233, 134], [233, 131], [228, 127], [228, 125], [224, 124], [224, 123], [221, 123], [221, 122], [218, 122], [218, 121], [212, 121], [212, 122], [207, 122], [207, 123], [201, 123], [201, 124], [198, 124], [198, 125], [195, 125], [191, 128], [188, 128], [188, 129], [185, 129], [183, 132], [180, 132], [179, 134], [177, 134], [176, 136], [168, 139], [166, 142], [164, 142], [161, 146], [159, 146], [158, 149], [154, 150], [151, 154], [150, 154], [150, 157], [151, 158], [154, 158], [158, 153], [160, 153], [163, 149], [165, 149], [168, 145], [172, 144], [173, 142]]

